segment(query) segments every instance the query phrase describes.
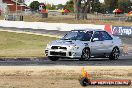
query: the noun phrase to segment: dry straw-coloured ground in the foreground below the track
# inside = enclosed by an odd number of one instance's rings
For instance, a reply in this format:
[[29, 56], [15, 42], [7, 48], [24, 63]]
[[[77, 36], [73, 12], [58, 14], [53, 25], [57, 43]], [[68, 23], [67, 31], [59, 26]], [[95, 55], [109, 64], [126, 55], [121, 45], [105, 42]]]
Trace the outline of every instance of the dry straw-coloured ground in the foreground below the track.
[[[0, 67], [0, 88], [82, 88], [79, 66]], [[130, 79], [132, 67], [84, 67], [92, 79]], [[95, 86], [90, 86], [95, 88]], [[132, 88], [132, 86], [96, 86]]]

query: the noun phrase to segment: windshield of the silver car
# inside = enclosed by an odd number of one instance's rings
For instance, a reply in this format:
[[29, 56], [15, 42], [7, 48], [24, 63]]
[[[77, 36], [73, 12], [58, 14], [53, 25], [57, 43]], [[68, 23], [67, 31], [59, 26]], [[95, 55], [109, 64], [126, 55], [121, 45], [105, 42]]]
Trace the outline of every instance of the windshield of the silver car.
[[92, 31], [71, 31], [67, 33], [61, 40], [81, 40], [90, 41]]

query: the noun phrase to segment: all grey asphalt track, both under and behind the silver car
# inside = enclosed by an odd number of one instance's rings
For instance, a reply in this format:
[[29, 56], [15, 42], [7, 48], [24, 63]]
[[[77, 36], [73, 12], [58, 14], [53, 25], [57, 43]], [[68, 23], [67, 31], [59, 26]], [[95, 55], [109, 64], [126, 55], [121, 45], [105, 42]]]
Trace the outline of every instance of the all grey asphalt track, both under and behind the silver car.
[[[42, 29], [16, 29], [1, 28], [3, 30], [31, 32], [40, 34], [49, 34], [62, 36], [66, 32], [47, 31]], [[125, 44], [132, 44], [132, 36], [119, 36]], [[0, 66], [132, 66], [132, 52], [126, 56], [121, 56], [119, 60], [109, 60], [108, 58], [91, 58], [89, 61], [79, 61], [78, 59], [60, 59], [58, 61], [50, 61], [47, 58], [16, 58], [7, 59], [0, 58]]]

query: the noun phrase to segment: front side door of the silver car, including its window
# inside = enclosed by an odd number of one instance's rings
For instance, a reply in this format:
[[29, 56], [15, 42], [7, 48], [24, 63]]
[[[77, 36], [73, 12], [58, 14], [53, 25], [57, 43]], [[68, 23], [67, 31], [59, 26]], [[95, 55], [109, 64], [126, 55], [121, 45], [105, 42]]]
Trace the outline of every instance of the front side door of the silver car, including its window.
[[[96, 40], [94, 40], [96, 39]], [[103, 37], [101, 31], [95, 31], [91, 40], [91, 54], [103, 54], [104, 53], [104, 45], [103, 45]]]

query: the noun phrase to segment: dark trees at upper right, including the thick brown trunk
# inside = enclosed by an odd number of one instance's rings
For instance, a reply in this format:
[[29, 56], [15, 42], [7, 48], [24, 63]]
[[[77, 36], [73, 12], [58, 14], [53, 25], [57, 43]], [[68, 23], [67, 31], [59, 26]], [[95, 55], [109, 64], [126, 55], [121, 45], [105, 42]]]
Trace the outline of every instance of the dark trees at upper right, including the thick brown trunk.
[[[70, 0], [71, 1], [71, 0]], [[73, 0], [76, 19], [87, 19], [87, 13], [113, 13], [113, 10], [119, 8], [123, 12], [132, 10], [132, 0]]]

